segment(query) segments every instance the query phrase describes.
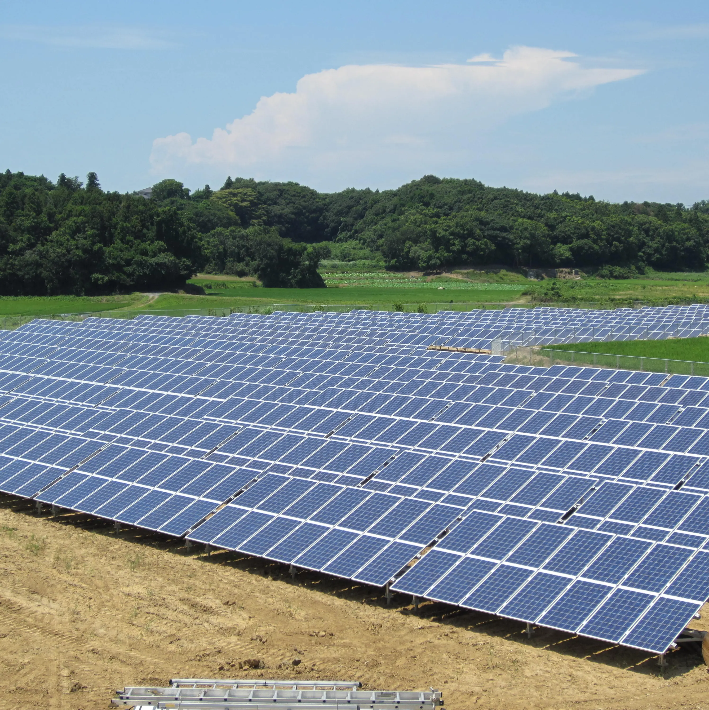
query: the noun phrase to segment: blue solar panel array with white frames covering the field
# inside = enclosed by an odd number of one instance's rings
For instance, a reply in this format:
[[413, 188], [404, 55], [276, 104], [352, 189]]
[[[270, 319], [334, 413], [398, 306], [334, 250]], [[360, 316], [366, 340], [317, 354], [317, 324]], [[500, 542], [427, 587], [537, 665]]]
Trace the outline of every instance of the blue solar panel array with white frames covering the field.
[[569, 311], [35, 320], [0, 491], [664, 652], [709, 596], [709, 379], [427, 350], [705, 317]]

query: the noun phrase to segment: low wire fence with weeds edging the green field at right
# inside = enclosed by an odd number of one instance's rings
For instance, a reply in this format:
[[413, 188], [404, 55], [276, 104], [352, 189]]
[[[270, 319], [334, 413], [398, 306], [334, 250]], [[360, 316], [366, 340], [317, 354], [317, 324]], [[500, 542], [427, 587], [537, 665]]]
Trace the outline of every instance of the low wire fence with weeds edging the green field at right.
[[670, 360], [636, 355], [585, 353], [576, 350], [554, 350], [534, 346], [520, 346], [513, 349], [507, 354], [505, 362], [542, 367], [577, 365], [582, 367], [612, 368], [613, 370], [660, 372], [668, 375], [709, 376], [708, 362]]

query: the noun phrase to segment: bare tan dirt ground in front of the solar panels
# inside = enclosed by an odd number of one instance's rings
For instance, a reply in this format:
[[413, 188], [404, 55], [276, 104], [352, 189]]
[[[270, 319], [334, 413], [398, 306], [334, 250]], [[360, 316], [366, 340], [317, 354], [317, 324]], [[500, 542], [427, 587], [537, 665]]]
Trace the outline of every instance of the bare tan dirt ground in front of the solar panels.
[[432, 686], [451, 710], [709, 709], [691, 652], [660, 674], [642, 652], [410, 601], [0, 496], [0, 709], [105, 709], [116, 688], [170, 677]]

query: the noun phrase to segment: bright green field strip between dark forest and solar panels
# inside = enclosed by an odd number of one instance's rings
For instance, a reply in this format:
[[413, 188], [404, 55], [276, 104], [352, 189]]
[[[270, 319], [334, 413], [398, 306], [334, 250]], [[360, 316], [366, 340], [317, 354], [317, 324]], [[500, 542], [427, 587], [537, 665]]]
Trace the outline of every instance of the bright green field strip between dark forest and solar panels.
[[[0, 297], [0, 319], [89, 312], [215, 312], [290, 307], [358, 306], [379, 310], [558, 305], [617, 307], [709, 301], [709, 272], [652, 272], [633, 279], [530, 280], [526, 270], [460, 268], [439, 275], [385, 271], [378, 263], [328, 261], [320, 273], [327, 288], [263, 288], [254, 278], [200, 274], [194, 293], [133, 293], [101, 297]], [[4, 321], [2, 327], [11, 327]], [[625, 346], [626, 344], [620, 344]], [[632, 346], [632, 344], [627, 344]], [[657, 345], [659, 346], [659, 345]]]

